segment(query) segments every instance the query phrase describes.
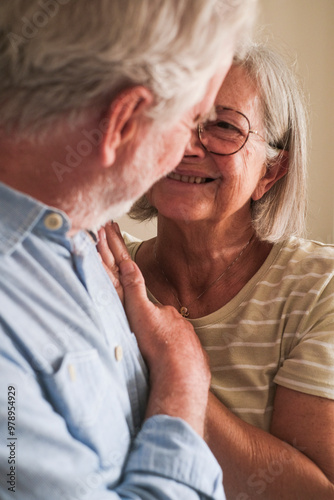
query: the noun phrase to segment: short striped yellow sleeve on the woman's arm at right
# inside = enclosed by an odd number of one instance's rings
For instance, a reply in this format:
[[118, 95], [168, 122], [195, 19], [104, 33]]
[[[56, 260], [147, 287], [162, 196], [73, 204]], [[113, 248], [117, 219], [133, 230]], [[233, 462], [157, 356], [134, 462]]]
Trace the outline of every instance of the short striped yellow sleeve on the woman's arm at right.
[[[312, 290], [310, 294], [312, 294]], [[306, 394], [334, 399], [334, 279], [303, 311], [301, 331], [274, 382]]]

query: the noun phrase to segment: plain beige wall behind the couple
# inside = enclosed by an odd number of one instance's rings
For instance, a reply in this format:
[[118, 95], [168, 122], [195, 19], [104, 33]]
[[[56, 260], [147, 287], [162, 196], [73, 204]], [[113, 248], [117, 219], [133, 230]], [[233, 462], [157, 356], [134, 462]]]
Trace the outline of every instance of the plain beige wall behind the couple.
[[[296, 62], [310, 115], [308, 236], [334, 243], [334, 0], [259, 0], [261, 37]], [[142, 239], [154, 222], [119, 220]]]

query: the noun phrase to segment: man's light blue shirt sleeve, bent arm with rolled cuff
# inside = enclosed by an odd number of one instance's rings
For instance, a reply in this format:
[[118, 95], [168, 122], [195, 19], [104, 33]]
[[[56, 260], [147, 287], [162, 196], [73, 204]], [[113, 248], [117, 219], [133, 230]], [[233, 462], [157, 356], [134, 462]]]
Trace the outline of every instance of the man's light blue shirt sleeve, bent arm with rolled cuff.
[[[148, 419], [128, 456], [101, 466], [94, 449], [71, 435], [49, 403], [38, 374], [1, 336], [2, 500], [225, 499], [218, 463], [181, 419]], [[112, 415], [110, 427], [117, 435]]]

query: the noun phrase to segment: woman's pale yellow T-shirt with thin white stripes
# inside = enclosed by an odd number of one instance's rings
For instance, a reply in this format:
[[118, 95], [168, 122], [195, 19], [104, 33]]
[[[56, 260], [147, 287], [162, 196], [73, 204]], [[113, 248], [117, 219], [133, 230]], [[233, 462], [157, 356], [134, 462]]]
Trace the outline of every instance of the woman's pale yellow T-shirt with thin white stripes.
[[[124, 236], [134, 259], [140, 240]], [[209, 355], [212, 391], [244, 421], [269, 430], [276, 384], [334, 399], [334, 245], [275, 245], [228, 304], [189, 321]]]

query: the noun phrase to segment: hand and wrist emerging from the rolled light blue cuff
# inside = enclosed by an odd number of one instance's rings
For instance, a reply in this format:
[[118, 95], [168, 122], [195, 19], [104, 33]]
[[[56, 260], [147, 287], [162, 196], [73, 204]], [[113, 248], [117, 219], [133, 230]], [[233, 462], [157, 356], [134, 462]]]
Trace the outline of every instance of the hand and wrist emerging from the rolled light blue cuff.
[[107, 224], [99, 238], [104, 266], [150, 371], [146, 417], [179, 417], [203, 436], [210, 371], [193, 327], [174, 307], [158, 306], [147, 298], [144, 278], [117, 224]]

